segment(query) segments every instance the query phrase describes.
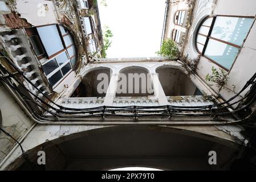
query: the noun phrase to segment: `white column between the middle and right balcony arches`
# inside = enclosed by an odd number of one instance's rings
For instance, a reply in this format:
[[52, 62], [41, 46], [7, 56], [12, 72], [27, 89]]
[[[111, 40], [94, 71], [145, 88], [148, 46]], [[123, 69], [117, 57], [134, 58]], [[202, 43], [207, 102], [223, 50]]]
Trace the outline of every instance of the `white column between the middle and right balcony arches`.
[[169, 105], [157, 73], [151, 73], [154, 94], [158, 98], [159, 105]]

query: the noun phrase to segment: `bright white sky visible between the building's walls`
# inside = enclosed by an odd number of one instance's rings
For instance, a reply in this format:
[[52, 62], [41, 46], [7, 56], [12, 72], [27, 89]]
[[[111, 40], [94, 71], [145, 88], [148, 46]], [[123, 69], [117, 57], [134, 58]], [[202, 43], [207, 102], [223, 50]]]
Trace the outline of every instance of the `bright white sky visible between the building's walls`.
[[107, 57], [157, 56], [160, 49], [165, 0], [98, 0], [101, 27], [113, 33]]

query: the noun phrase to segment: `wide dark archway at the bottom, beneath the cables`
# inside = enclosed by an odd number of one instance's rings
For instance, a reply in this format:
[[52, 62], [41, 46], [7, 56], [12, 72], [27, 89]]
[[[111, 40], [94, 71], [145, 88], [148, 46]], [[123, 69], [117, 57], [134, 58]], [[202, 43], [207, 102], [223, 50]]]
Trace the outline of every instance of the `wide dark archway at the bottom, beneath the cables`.
[[[237, 150], [233, 143], [200, 133], [164, 126], [112, 126], [83, 131], [32, 148], [27, 154], [36, 165], [37, 152], [46, 153], [45, 170], [108, 170], [150, 167], [165, 170], [227, 169]], [[218, 154], [210, 165], [209, 151]], [[223, 166], [222, 166], [223, 165]], [[33, 165], [17, 159], [8, 169]]]

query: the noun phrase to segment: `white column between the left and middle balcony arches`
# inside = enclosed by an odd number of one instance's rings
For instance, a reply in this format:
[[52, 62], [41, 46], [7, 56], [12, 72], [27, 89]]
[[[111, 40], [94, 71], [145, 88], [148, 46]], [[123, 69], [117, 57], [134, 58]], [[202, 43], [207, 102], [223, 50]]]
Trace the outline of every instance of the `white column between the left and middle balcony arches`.
[[111, 74], [111, 79], [109, 81], [108, 90], [105, 95], [103, 105], [112, 106], [114, 97], [116, 95], [117, 82], [118, 82], [118, 74]]

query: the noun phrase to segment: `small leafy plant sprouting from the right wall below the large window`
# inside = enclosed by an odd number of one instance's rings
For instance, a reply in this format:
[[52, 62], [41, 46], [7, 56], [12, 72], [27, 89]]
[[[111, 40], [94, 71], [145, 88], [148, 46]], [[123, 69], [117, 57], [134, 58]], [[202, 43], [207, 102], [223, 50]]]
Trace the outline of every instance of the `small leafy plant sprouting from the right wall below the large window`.
[[214, 82], [217, 84], [219, 89], [219, 92], [221, 91], [222, 87], [226, 85], [227, 80], [229, 78], [227, 77], [227, 73], [224, 71], [224, 69], [220, 69], [220, 72], [217, 71], [216, 68], [212, 67], [212, 75], [209, 75], [209, 73], [206, 75], [205, 80]]

